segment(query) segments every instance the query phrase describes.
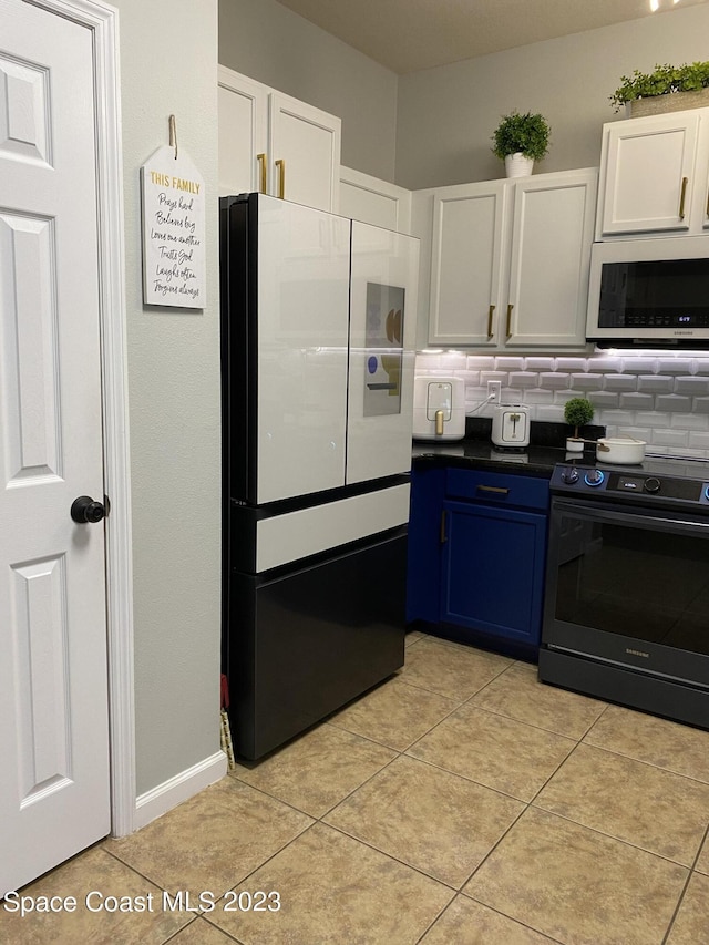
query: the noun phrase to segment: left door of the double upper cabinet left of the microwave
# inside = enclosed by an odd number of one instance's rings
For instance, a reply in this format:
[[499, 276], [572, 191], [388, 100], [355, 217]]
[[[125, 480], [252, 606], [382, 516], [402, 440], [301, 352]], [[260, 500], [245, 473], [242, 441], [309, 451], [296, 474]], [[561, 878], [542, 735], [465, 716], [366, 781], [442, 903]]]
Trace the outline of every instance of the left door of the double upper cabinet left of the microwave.
[[431, 345], [493, 346], [502, 297], [508, 187], [444, 187], [433, 198]]

